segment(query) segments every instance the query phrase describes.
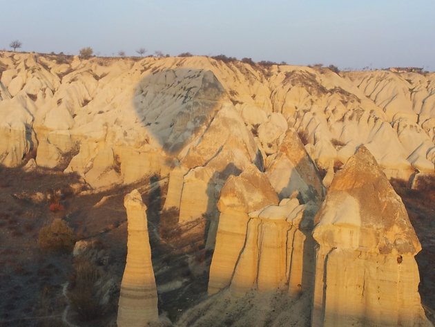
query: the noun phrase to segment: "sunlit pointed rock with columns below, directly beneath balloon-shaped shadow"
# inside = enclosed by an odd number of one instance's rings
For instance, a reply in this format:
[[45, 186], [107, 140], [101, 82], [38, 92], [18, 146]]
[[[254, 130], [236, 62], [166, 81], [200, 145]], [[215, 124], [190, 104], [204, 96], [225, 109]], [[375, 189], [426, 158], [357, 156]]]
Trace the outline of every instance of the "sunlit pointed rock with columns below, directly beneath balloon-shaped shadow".
[[[203, 214], [213, 216], [226, 178], [237, 176], [251, 162], [262, 167], [258, 153], [240, 114], [231, 104], [224, 104], [199, 143], [182, 158], [182, 165], [191, 168], [184, 174], [183, 183], [171, 183], [170, 180], [168, 194], [181, 193], [179, 223], [193, 221]], [[173, 175], [173, 178], [178, 177]], [[177, 207], [177, 204], [173, 206]]]

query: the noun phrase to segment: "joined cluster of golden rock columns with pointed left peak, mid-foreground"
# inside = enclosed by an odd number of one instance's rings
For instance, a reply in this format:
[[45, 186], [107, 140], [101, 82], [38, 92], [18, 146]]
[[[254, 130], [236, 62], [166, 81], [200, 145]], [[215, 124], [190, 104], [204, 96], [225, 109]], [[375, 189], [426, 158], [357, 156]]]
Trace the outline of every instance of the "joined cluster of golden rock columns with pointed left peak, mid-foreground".
[[267, 177], [252, 167], [230, 177], [220, 194], [218, 234], [211, 261], [209, 294], [230, 286], [233, 295], [251, 289], [312, 290], [317, 205], [281, 200]]

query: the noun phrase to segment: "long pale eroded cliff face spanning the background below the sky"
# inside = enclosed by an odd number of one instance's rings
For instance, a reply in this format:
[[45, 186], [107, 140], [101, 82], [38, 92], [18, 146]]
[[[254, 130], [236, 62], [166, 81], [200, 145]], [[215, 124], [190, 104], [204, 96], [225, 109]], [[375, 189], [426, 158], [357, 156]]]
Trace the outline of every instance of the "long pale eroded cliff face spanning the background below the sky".
[[[76, 144], [83, 147], [68, 171], [84, 176], [97, 153], [109, 147], [119, 158], [121, 182], [133, 183], [166, 175], [180, 162], [189, 169], [205, 167], [231, 131], [262, 169], [260, 157], [279, 153], [293, 127], [322, 169], [346, 162], [365, 144], [388, 176], [433, 170], [434, 74], [337, 75], [326, 68], [208, 57], [59, 59], [2, 53], [2, 165], [20, 165], [32, 144], [36, 149], [48, 140], [62, 160]], [[217, 124], [221, 111], [226, 118]], [[21, 131], [20, 124], [26, 138], [10, 132]], [[99, 143], [95, 149], [93, 142]]]

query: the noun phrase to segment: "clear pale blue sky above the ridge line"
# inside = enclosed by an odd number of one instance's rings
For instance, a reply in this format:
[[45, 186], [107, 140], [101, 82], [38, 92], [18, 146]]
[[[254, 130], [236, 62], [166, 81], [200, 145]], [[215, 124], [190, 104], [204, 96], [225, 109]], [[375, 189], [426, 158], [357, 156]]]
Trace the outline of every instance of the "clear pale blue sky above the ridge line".
[[0, 0], [0, 49], [435, 71], [435, 0]]

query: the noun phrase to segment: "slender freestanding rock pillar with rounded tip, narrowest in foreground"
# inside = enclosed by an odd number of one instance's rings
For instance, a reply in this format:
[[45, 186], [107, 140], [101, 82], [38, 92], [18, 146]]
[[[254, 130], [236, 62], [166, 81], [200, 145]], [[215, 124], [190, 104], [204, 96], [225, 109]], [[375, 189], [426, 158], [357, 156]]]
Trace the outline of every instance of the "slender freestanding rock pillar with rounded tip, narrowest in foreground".
[[135, 189], [125, 196], [124, 206], [128, 218], [128, 252], [119, 295], [117, 325], [142, 327], [158, 318], [146, 205]]

